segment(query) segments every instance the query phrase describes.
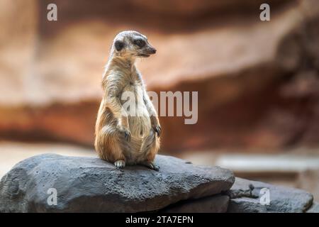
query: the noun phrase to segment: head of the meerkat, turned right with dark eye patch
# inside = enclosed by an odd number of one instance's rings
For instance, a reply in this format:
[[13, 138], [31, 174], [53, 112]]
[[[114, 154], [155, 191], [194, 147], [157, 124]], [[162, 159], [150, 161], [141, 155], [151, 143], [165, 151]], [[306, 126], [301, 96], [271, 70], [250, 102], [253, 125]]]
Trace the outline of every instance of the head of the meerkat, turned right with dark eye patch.
[[112, 52], [117, 57], [150, 57], [156, 50], [145, 35], [137, 31], [122, 31], [114, 38]]

